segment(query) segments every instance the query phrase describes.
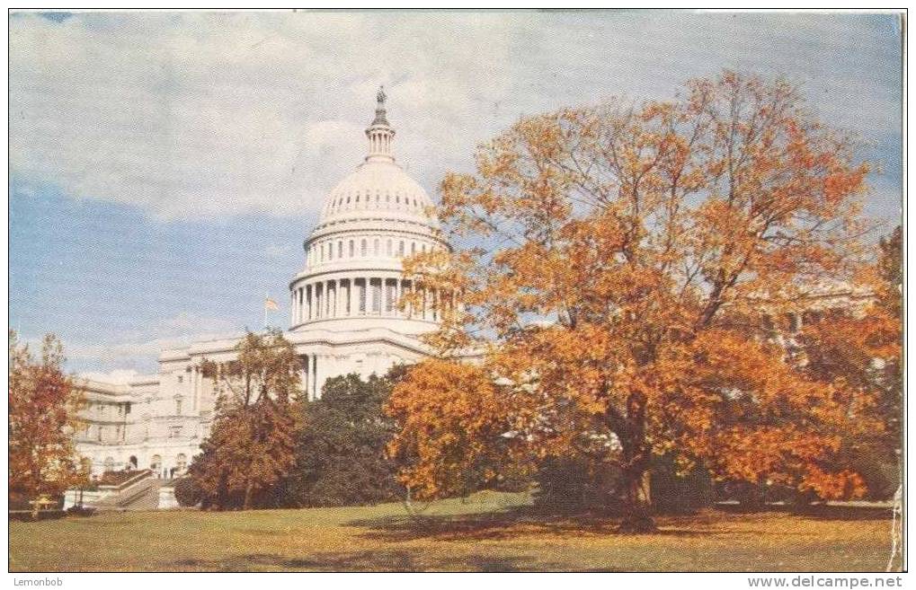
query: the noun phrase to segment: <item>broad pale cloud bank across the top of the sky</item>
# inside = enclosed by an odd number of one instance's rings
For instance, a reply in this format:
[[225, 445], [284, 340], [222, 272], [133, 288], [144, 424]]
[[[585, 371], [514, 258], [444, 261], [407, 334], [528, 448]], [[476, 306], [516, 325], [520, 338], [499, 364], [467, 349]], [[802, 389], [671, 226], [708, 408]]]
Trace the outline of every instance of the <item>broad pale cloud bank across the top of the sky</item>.
[[305, 217], [361, 160], [380, 82], [398, 157], [432, 191], [521, 113], [669, 96], [726, 66], [787, 74], [834, 123], [887, 133], [898, 98], [875, 30], [849, 15], [15, 15], [10, 166], [161, 219]]

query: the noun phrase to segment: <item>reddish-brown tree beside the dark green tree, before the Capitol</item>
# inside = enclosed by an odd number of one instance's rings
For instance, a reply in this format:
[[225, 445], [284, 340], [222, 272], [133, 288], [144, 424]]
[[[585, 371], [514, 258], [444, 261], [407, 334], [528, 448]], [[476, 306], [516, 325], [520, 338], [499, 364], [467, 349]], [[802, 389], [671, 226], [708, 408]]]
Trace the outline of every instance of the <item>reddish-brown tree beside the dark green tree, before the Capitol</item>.
[[295, 460], [299, 360], [278, 330], [248, 332], [236, 359], [204, 361], [218, 392], [216, 415], [190, 474], [203, 502], [220, 510], [253, 506]]

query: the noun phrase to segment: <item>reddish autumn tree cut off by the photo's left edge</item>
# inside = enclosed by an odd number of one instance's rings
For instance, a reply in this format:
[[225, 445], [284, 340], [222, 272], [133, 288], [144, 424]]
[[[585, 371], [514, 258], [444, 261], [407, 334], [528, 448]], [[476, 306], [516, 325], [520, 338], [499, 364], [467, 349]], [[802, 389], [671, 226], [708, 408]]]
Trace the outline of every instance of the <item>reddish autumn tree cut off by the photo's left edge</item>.
[[36, 358], [9, 331], [9, 490], [56, 496], [82, 483], [85, 467], [73, 445], [82, 392], [63, 371], [60, 340], [49, 334]]

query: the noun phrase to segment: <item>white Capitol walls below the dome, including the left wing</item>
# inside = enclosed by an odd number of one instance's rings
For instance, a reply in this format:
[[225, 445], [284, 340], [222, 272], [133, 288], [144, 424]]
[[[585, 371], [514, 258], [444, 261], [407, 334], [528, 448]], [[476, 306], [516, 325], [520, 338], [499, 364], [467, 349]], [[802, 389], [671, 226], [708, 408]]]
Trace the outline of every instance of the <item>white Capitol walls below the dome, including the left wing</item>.
[[[365, 379], [425, 356], [416, 338], [382, 328], [315, 330], [286, 336], [303, 361], [303, 389], [311, 400], [320, 396], [327, 379], [348, 373]], [[139, 469], [155, 467], [158, 477], [183, 473], [209, 434], [216, 403], [213, 382], [202, 378], [193, 367], [202, 359], [233, 359], [235, 342], [229, 338], [168, 351], [155, 377], [126, 385], [93, 382], [87, 392], [89, 404], [82, 413], [88, 431], [77, 435], [77, 447], [92, 461], [93, 475], [100, 476], [106, 465], [114, 470], [133, 468], [135, 461]], [[307, 360], [308, 371], [304, 370]], [[317, 373], [313, 372], [316, 366]], [[103, 429], [101, 441], [97, 438], [99, 428]], [[121, 432], [124, 434], [119, 438], [117, 433]]]

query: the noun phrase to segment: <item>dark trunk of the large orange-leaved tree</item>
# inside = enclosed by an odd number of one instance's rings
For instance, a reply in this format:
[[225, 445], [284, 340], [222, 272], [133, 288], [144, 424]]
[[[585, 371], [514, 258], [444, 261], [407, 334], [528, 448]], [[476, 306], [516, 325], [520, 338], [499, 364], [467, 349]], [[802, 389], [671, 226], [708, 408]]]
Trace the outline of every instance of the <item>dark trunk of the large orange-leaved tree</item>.
[[649, 495], [651, 449], [646, 441], [646, 396], [632, 392], [627, 398], [627, 428], [621, 436], [626, 505], [620, 532], [656, 531]]

